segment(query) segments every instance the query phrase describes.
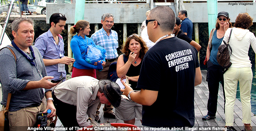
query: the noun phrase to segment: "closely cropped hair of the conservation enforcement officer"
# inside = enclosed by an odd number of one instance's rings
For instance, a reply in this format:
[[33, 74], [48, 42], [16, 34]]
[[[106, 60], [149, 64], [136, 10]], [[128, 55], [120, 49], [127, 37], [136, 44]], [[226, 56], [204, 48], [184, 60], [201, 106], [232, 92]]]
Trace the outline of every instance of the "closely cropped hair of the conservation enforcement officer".
[[159, 27], [162, 29], [162, 31], [173, 31], [176, 19], [175, 13], [170, 7], [157, 6], [150, 10], [149, 16], [150, 19], [156, 20], [160, 24]]

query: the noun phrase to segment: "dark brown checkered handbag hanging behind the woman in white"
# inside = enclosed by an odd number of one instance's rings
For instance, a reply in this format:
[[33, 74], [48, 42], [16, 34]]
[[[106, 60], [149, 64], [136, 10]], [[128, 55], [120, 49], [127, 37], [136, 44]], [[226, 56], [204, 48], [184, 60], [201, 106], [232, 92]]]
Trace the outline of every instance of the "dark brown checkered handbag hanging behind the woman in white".
[[[217, 62], [219, 63], [220, 66], [222, 66], [223, 68], [225, 68], [225, 70], [223, 71], [223, 74], [229, 69], [229, 67], [232, 65], [232, 63], [230, 62], [230, 55], [232, 54], [232, 48], [230, 47], [230, 44], [229, 44], [229, 40], [230, 40], [230, 36], [231, 36], [231, 33], [232, 33], [232, 29], [230, 30], [230, 35], [229, 35], [229, 38], [228, 38], [228, 43], [226, 43], [224, 40], [223, 40], [223, 44], [221, 44], [218, 48], [218, 53], [217, 53]], [[231, 50], [231, 54], [229, 55], [229, 50], [228, 50], [228, 47], [230, 48]]]

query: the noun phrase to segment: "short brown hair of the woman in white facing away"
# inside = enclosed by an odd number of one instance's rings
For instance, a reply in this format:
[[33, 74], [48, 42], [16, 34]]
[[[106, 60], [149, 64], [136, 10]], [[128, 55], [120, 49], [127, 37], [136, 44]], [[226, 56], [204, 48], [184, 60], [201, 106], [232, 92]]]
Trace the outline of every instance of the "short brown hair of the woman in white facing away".
[[240, 13], [237, 16], [234, 27], [247, 29], [252, 26], [253, 18], [248, 13]]

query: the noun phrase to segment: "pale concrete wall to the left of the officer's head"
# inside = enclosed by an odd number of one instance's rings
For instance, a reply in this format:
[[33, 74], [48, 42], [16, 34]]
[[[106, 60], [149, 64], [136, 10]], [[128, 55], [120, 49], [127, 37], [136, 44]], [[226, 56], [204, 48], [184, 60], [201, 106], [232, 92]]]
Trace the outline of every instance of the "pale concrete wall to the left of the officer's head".
[[[50, 15], [60, 12], [66, 15], [67, 24], [73, 24], [75, 20], [75, 4], [47, 4], [46, 22], [49, 23]], [[148, 3], [122, 3], [122, 4], [85, 4], [84, 20], [91, 24], [101, 23], [104, 13], [114, 15], [114, 23], [142, 23], [145, 13], [150, 10]]]

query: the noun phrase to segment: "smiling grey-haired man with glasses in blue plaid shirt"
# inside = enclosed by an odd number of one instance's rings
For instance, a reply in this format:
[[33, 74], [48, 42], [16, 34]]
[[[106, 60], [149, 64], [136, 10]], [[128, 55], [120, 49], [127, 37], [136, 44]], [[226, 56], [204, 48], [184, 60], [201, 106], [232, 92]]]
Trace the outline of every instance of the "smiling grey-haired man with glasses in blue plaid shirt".
[[[116, 57], [118, 56], [116, 50], [116, 48], [118, 48], [117, 32], [111, 30], [114, 25], [114, 16], [111, 13], [103, 14], [101, 16], [101, 24], [102, 28], [91, 36], [91, 39], [96, 45], [106, 49], [106, 64], [103, 66], [103, 70], [101, 72], [96, 70], [96, 77], [98, 80], [107, 79], [109, 66], [111, 63], [117, 61]], [[98, 107], [100, 107], [100, 105]], [[115, 118], [115, 114], [112, 109], [112, 105], [109, 106], [108, 104], [105, 104], [105, 107], [103, 108], [104, 117]], [[96, 117], [96, 119], [98, 119], [98, 117]]]

